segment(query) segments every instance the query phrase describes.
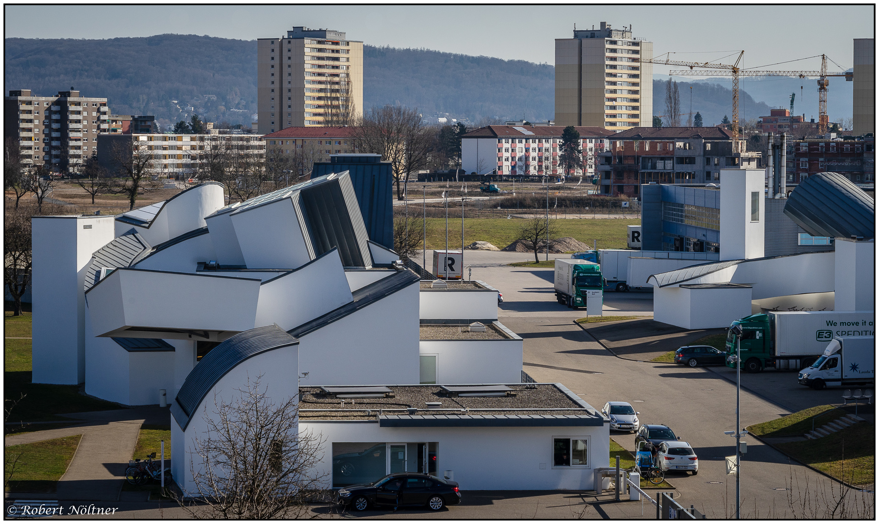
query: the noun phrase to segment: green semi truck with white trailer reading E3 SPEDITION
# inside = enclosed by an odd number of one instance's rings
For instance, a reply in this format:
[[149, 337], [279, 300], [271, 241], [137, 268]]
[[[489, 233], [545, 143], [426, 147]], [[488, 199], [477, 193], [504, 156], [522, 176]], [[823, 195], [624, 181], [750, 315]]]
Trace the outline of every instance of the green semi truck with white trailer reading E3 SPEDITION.
[[[808, 368], [833, 337], [873, 336], [873, 324], [872, 311], [794, 311], [757, 313], [731, 326], [742, 327], [742, 369], [757, 373], [766, 368]], [[731, 330], [726, 337], [730, 368], [736, 366], [738, 339]]]

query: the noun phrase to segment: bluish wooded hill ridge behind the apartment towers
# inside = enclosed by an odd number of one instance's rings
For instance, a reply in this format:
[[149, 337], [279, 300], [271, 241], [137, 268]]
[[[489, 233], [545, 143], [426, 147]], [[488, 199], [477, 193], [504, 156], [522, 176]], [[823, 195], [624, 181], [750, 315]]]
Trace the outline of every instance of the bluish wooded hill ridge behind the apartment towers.
[[[107, 97], [115, 114], [153, 114], [163, 124], [188, 119], [249, 124], [256, 105], [256, 40], [160, 34], [120, 39], [5, 39], [7, 90], [52, 96], [73, 86]], [[364, 47], [364, 106], [403, 104], [425, 117], [540, 121], [554, 118], [554, 68], [528, 61], [442, 53], [429, 49]], [[689, 83], [679, 83], [689, 111]], [[730, 115], [731, 91], [693, 83], [693, 111], [705, 126]], [[787, 96], [787, 95], [785, 95]], [[654, 81], [653, 113], [663, 114], [665, 83]], [[742, 118], [768, 106], [741, 94]], [[731, 115], [730, 115], [731, 116]], [[686, 117], [684, 118], [686, 121]]]

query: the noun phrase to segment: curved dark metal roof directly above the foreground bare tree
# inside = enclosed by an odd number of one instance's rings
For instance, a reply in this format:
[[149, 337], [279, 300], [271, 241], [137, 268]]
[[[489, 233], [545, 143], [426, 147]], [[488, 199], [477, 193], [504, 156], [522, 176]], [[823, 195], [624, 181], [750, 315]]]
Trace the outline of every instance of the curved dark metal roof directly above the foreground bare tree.
[[238, 364], [251, 356], [297, 344], [299, 341], [277, 324], [249, 329], [222, 342], [203, 356], [186, 377], [175, 402], [171, 404], [174, 420], [185, 430], [208, 391]]

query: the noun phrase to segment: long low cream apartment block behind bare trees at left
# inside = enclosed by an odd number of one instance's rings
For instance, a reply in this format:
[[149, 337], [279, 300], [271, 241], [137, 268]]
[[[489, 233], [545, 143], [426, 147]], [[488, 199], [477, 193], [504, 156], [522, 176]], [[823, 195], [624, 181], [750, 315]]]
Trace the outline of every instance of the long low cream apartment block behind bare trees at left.
[[265, 159], [265, 140], [258, 134], [105, 133], [98, 136], [98, 163], [111, 172], [118, 169], [120, 148], [127, 154], [151, 154], [153, 175], [178, 180], [197, 175], [208, 155], [247, 154], [258, 162]]

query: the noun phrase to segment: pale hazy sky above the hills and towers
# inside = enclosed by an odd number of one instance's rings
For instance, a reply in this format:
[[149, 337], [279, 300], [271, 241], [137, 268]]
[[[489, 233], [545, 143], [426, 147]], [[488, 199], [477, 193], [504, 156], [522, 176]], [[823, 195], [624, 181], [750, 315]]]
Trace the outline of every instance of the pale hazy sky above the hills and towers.
[[[655, 54], [673, 52], [677, 60], [711, 61], [744, 49], [745, 68], [816, 54], [850, 68], [852, 39], [874, 38], [875, 19], [872, 4], [7, 5], [4, 11], [7, 38], [106, 39], [171, 32], [258, 39], [306, 25], [345, 31], [348, 39], [374, 46], [549, 64], [554, 62], [553, 40], [570, 38], [575, 23], [586, 29], [607, 21], [614, 27], [632, 25], [634, 36], [654, 42]], [[769, 68], [817, 69], [819, 64], [812, 59]], [[656, 66], [654, 73], [667, 70]]]

